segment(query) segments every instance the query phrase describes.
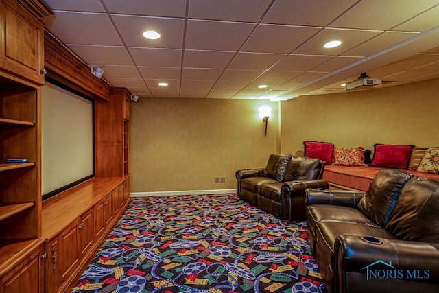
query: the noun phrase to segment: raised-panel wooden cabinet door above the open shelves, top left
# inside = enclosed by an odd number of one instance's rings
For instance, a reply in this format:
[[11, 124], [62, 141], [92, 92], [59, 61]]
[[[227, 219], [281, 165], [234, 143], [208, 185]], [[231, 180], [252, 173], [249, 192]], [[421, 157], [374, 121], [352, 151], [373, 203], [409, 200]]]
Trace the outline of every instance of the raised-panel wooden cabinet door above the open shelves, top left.
[[18, 1], [3, 0], [1, 7], [0, 65], [21, 78], [43, 84], [44, 25]]

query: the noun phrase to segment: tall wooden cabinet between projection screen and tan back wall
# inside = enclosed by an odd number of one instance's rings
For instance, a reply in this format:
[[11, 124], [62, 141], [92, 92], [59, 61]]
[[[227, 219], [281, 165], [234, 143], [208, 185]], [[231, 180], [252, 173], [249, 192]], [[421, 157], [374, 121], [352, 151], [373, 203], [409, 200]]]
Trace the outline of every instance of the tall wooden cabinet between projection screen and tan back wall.
[[114, 88], [110, 102], [95, 101], [96, 177], [128, 175], [130, 95], [125, 88]]

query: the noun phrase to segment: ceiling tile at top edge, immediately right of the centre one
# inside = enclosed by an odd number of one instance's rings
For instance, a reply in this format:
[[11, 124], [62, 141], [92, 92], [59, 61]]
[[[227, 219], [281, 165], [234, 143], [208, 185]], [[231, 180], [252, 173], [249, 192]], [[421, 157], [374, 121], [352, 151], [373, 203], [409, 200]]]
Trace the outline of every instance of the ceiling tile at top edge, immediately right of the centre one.
[[321, 0], [277, 0], [262, 22], [323, 27], [356, 2], [357, 0], [331, 1], [331, 5], [324, 5]]

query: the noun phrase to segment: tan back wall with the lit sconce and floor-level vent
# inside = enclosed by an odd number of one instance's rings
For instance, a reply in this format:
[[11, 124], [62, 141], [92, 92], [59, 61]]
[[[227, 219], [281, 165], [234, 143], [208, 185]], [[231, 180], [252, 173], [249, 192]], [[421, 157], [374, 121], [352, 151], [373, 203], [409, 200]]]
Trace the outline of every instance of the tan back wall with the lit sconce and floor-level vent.
[[[264, 136], [257, 108], [272, 107]], [[130, 106], [132, 192], [235, 188], [235, 171], [265, 167], [276, 152], [278, 103], [229, 99], [139, 99]], [[226, 176], [226, 185], [214, 185]]]

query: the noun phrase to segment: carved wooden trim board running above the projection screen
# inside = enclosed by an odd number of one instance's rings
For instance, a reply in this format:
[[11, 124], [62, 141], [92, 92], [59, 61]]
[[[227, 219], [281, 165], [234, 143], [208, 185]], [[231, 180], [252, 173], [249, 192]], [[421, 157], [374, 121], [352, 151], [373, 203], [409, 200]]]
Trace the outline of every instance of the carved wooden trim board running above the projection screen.
[[45, 69], [47, 75], [66, 84], [72, 89], [84, 93], [88, 91], [93, 97], [110, 100], [112, 86], [102, 78], [97, 78], [90, 68], [64, 47], [54, 36], [44, 34]]

